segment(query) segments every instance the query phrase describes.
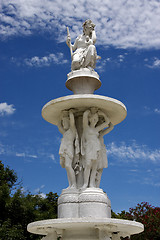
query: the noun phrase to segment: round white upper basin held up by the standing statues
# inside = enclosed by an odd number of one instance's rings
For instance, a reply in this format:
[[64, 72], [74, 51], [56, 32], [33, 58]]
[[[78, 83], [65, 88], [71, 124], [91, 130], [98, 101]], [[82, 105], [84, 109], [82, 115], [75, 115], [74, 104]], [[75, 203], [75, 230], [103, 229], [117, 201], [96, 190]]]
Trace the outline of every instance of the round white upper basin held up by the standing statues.
[[42, 109], [42, 117], [46, 121], [58, 125], [63, 110], [84, 111], [90, 107], [101, 109], [107, 114], [113, 125], [119, 124], [127, 116], [125, 105], [114, 98], [96, 94], [76, 94], [56, 98], [48, 102]]

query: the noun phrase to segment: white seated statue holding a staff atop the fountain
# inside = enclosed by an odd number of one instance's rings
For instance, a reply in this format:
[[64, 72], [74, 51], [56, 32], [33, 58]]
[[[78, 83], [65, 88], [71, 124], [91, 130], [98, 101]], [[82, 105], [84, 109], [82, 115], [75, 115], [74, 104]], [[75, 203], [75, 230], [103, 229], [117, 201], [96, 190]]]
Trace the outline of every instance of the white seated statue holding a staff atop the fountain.
[[95, 48], [96, 33], [94, 30], [95, 25], [91, 20], [86, 20], [83, 23], [83, 34], [76, 38], [75, 43], [71, 44], [71, 37], [67, 36], [67, 45], [70, 48], [71, 58], [72, 58], [72, 70], [79, 70], [81, 68], [94, 69], [96, 65], [96, 60], [100, 59], [97, 56], [97, 51]]

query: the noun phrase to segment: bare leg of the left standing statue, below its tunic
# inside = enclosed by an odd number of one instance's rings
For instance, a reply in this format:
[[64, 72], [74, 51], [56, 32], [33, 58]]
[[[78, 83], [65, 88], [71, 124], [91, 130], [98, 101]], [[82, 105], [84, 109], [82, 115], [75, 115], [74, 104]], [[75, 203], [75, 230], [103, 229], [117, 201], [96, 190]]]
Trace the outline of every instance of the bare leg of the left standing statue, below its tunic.
[[66, 156], [65, 169], [67, 171], [69, 187], [76, 188], [76, 177], [75, 177], [74, 170], [72, 168], [72, 159], [68, 155]]

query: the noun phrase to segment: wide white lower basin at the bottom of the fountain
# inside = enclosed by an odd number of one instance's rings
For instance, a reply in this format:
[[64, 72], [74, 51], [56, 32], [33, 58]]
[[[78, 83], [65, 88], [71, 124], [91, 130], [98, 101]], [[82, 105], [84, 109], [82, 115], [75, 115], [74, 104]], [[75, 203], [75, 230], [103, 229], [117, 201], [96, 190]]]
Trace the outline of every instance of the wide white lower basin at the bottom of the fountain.
[[[111, 236], [113, 233], [121, 233], [120, 235], [125, 237], [130, 236], [131, 234], [142, 232], [144, 227], [143, 224], [135, 221], [93, 217], [42, 220], [30, 223], [27, 227], [29, 232], [42, 235], [47, 235], [55, 231], [59, 233], [61, 231], [63, 239], [65, 239], [65, 236], [63, 236], [64, 231], [65, 233], [67, 232], [67, 234], [69, 234], [69, 232], [72, 232], [71, 229], [73, 232], [80, 230], [79, 236], [77, 236], [76, 239], [81, 239], [80, 235], [83, 235], [83, 231], [85, 232], [89, 229], [92, 229], [92, 231], [95, 229], [105, 229], [109, 236]], [[68, 239], [72, 239], [72, 237], [70, 236]]]

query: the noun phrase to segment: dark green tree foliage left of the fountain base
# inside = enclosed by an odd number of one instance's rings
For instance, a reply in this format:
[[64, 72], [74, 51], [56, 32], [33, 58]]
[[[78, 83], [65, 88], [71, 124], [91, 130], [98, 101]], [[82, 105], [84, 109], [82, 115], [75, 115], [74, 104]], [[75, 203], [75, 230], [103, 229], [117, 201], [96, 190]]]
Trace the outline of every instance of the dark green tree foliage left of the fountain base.
[[58, 195], [50, 192], [43, 198], [40, 194], [23, 193], [20, 185], [11, 194], [16, 181], [16, 173], [0, 161], [0, 240], [41, 239], [27, 232], [27, 225], [56, 218]]

